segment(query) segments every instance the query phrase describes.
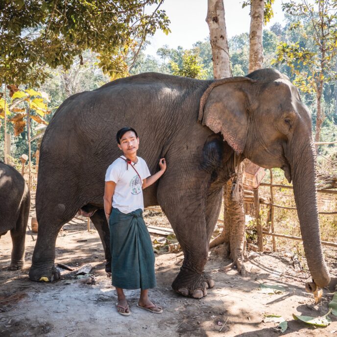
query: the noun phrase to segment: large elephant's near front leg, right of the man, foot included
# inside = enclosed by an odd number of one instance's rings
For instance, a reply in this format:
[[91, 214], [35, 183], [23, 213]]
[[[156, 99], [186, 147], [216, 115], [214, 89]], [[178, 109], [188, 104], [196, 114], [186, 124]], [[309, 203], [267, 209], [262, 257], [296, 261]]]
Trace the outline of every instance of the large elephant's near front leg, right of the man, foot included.
[[[184, 296], [201, 298], [206, 296], [207, 288], [214, 287], [214, 281], [204, 272], [208, 258], [206, 186], [186, 187], [186, 182], [171, 179], [169, 174], [163, 178], [158, 187], [158, 201], [184, 252], [183, 265], [172, 288]], [[200, 183], [206, 181], [203, 178], [190, 177], [186, 181]]]

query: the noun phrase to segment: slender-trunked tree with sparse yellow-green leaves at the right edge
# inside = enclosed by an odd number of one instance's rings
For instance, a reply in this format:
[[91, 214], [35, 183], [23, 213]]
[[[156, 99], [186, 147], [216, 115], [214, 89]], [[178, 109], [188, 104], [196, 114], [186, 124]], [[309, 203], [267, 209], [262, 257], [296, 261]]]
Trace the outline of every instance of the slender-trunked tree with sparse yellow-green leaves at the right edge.
[[[283, 9], [298, 17], [290, 25], [302, 37], [299, 42], [278, 46], [276, 62], [285, 63], [295, 76], [294, 83], [304, 93], [316, 96], [315, 142], [319, 142], [325, 112], [322, 109], [326, 83], [335, 80], [337, 71], [337, 0], [289, 0]], [[335, 89], [336, 90], [336, 89]], [[316, 145], [316, 152], [318, 145]]]

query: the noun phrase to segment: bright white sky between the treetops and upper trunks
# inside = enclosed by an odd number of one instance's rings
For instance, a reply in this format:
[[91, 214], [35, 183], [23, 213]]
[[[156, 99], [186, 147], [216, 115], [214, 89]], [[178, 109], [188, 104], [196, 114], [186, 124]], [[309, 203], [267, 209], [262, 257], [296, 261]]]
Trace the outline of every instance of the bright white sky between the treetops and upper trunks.
[[[249, 6], [242, 9], [242, 0], [223, 1], [227, 37], [231, 38], [234, 35], [249, 32]], [[281, 4], [282, 0], [275, 0], [274, 18], [266, 25], [266, 28], [276, 22], [282, 24], [284, 15]], [[165, 0], [160, 8], [166, 10], [171, 21], [169, 25], [171, 33], [165, 35], [162, 31], [157, 31], [153, 37], [149, 38], [151, 45], [145, 49], [146, 54], [156, 56], [157, 49], [163, 45], [168, 45], [169, 48], [182, 46], [184, 49], [189, 49], [196, 41], [203, 41], [208, 37], [209, 29], [205, 21], [207, 0]]]

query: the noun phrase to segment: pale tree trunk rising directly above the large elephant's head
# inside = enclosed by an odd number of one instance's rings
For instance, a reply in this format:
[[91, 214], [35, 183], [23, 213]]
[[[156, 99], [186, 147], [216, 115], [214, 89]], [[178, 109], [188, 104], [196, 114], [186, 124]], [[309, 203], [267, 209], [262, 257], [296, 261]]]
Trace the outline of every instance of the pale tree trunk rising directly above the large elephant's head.
[[249, 72], [261, 69], [263, 65], [262, 31], [264, 21], [264, 0], [251, 0], [249, 30]]

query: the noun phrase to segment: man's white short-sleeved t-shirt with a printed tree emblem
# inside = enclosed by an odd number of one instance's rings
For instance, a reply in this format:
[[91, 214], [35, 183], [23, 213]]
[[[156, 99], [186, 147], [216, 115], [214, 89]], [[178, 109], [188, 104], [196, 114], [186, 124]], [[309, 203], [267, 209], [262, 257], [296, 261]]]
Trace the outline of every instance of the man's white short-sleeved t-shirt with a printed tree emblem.
[[[124, 156], [122, 158], [126, 159]], [[116, 183], [112, 197], [112, 207], [122, 213], [130, 213], [141, 208], [144, 211], [142, 184], [151, 175], [143, 158], [137, 157], [137, 163], [127, 164], [122, 158], [117, 158], [107, 169], [105, 181]], [[137, 170], [142, 179], [139, 178]], [[126, 169], [127, 168], [127, 169]]]

